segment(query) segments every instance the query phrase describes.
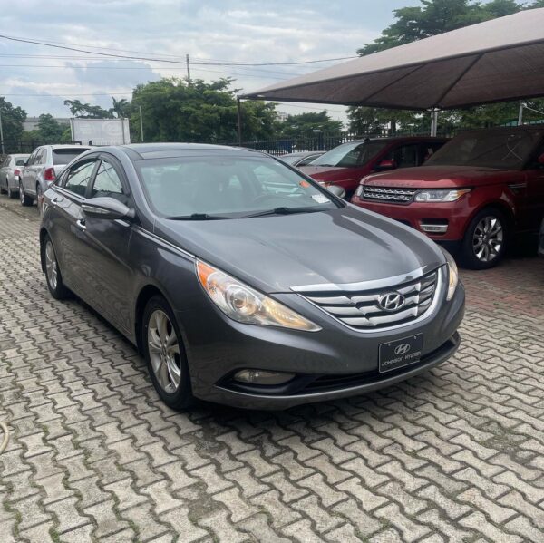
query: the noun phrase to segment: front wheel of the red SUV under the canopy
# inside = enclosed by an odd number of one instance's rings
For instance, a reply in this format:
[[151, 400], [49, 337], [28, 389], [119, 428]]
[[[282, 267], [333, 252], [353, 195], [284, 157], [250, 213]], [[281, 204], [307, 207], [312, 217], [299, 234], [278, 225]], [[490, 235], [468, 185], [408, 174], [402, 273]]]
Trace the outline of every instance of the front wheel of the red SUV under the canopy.
[[508, 224], [504, 215], [493, 208], [482, 209], [462, 240], [461, 257], [466, 267], [487, 269], [497, 266], [506, 250]]

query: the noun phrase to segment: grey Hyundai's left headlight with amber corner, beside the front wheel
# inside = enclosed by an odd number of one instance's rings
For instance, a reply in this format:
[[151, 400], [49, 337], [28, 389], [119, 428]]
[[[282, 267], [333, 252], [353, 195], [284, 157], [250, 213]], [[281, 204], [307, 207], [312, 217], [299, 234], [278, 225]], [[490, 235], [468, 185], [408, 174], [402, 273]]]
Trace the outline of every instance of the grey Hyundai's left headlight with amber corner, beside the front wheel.
[[283, 304], [257, 292], [217, 267], [197, 260], [200, 285], [211, 301], [231, 319], [248, 325], [282, 326], [316, 332], [321, 328]]

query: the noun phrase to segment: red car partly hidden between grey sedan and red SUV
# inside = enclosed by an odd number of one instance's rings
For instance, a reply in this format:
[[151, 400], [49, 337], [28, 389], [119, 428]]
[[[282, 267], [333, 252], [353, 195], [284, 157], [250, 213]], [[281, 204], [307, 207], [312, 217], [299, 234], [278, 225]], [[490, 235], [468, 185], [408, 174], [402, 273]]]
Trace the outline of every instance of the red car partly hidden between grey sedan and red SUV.
[[373, 171], [420, 166], [448, 141], [445, 138], [381, 138], [343, 143], [302, 170], [325, 186], [345, 189], [351, 198], [359, 182]]

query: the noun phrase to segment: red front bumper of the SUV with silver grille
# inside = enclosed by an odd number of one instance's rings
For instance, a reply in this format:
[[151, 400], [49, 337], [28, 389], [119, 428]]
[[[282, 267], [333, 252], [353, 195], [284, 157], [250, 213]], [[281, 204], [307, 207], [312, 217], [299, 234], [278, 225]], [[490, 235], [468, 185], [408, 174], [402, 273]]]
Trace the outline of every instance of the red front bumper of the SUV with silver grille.
[[471, 210], [463, 202], [392, 204], [357, 196], [351, 202], [360, 208], [398, 220], [437, 242], [460, 241], [471, 218]]

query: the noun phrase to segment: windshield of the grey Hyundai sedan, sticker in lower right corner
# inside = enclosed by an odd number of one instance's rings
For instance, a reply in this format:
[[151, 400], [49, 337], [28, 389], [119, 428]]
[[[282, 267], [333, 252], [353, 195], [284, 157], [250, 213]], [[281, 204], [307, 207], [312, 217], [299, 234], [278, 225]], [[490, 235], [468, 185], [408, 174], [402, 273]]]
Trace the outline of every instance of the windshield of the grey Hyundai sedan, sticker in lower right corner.
[[316, 183], [264, 157], [136, 161], [151, 207], [166, 218], [241, 218], [342, 206]]

